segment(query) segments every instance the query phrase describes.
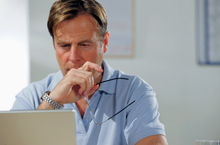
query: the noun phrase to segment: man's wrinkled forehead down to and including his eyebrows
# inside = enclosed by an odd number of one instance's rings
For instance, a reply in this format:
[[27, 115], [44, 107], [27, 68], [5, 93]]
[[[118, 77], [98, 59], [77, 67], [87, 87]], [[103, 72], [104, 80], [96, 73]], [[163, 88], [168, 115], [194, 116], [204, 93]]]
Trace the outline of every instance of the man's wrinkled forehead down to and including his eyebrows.
[[56, 29], [54, 42], [57, 44], [70, 44], [101, 42], [97, 23], [88, 15], [64, 21]]

